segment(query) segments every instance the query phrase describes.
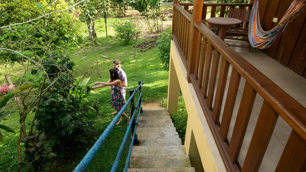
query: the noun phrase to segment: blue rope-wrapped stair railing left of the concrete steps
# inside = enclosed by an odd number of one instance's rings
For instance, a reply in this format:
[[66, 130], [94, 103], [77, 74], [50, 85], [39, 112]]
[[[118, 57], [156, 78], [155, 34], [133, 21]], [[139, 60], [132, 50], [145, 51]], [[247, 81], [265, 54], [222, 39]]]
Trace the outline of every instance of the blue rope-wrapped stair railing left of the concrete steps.
[[[76, 166], [76, 168], [73, 170], [73, 172], [84, 172], [86, 170], [86, 168], [88, 167], [89, 163], [91, 162], [91, 160], [94, 158], [95, 154], [98, 152], [99, 148], [101, 148], [101, 146], [103, 145], [103, 143], [105, 142], [107, 136], [110, 134], [110, 132], [114, 129], [116, 123], [118, 122], [119, 118], [121, 117], [122, 113], [125, 111], [126, 107], [128, 107], [129, 103], [131, 103], [132, 100], [134, 100], [134, 95], [136, 93], [136, 91], [141, 87], [141, 85], [143, 85], [143, 82], [140, 81], [139, 82], [139, 85], [138, 87], [134, 90], [134, 92], [132, 93], [132, 95], [130, 95], [130, 98], [128, 99], [128, 101], [125, 103], [125, 105], [122, 107], [122, 109], [119, 111], [119, 113], [116, 115], [116, 117], [113, 119], [112, 122], [110, 122], [110, 124], [107, 126], [107, 128], [104, 130], [103, 134], [99, 137], [99, 139], [95, 142], [95, 144], [91, 147], [91, 149], [87, 152], [87, 154], [84, 156], [84, 158], [81, 160], [81, 162]], [[111, 169], [111, 172], [115, 172], [117, 167], [118, 167], [118, 164], [119, 164], [119, 160], [120, 160], [120, 157], [121, 157], [121, 154], [122, 154], [122, 151], [123, 151], [123, 148], [124, 148], [124, 144], [126, 143], [127, 139], [128, 139], [128, 134], [130, 132], [130, 129], [132, 127], [132, 121], [134, 120], [135, 118], [135, 114], [136, 114], [136, 110], [137, 110], [137, 107], [138, 107], [138, 104], [139, 104], [139, 101], [141, 100], [141, 94], [142, 94], [142, 91], [140, 90], [140, 93], [139, 93], [139, 98], [138, 98], [138, 101], [137, 101], [137, 104], [136, 104], [136, 107], [135, 107], [135, 110], [133, 111], [133, 114], [132, 114], [132, 118], [130, 118], [130, 123], [128, 125], [128, 128], [125, 132], [125, 136], [122, 140], [122, 143], [121, 143], [121, 146], [119, 148], [119, 151], [117, 153], [117, 156], [116, 156], [116, 159], [115, 159], [115, 162], [113, 164], [113, 167]], [[132, 102], [133, 103], [133, 102]], [[140, 109], [141, 109], [141, 105], [142, 105], [142, 101], [140, 102], [140, 107], [138, 108], [138, 117], [139, 117], [139, 114], [140, 114]], [[135, 138], [135, 131], [136, 131], [136, 128], [137, 128], [137, 122], [138, 122], [138, 117], [137, 117], [137, 120], [136, 120], [136, 124], [135, 124], [135, 128], [134, 128], [134, 132], [133, 132], [133, 139], [132, 139], [132, 143], [134, 142], [134, 138]], [[131, 143], [131, 146], [132, 147], [132, 144]], [[129, 150], [129, 155], [128, 157], [130, 157], [130, 151]], [[129, 162], [129, 159], [126, 159], [126, 163]]]

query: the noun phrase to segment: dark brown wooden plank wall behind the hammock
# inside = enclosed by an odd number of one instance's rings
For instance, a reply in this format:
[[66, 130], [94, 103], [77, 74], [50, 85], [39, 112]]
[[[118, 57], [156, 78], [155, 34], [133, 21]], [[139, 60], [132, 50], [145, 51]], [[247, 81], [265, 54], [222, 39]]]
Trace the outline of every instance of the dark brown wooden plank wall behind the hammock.
[[[260, 21], [264, 30], [270, 30], [277, 23], [273, 18], [282, 18], [292, 0], [260, 0]], [[306, 78], [306, 9], [288, 25], [270, 48], [264, 53], [274, 58], [282, 65]]]

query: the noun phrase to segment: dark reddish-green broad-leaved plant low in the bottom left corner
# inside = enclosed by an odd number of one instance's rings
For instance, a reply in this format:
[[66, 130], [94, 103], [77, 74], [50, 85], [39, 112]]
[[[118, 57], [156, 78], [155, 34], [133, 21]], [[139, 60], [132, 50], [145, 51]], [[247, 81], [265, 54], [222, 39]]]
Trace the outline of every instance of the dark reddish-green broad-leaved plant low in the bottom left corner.
[[49, 170], [50, 159], [56, 154], [52, 153], [52, 149], [47, 141], [45, 135], [34, 130], [31, 136], [25, 137], [21, 141], [24, 143], [24, 161], [19, 163], [18, 171], [39, 171]]

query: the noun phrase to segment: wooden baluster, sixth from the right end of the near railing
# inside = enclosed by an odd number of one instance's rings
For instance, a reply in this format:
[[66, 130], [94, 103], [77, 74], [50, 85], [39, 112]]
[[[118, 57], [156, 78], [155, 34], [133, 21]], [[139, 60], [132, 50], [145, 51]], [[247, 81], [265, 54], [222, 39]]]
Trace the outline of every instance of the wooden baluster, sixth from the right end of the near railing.
[[211, 68], [211, 77], [209, 81], [209, 88], [208, 88], [208, 94], [207, 94], [207, 107], [209, 110], [212, 109], [212, 100], [214, 99], [214, 93], [215, 93], [215, 85], [216, 85], [216, 79], [217, 79], [217, 73], [218, 73], [218, 67], [219, 67], [219, 60], [220, 60], [220, 53], [215, 49], [214, 50], [214, 58], [212, 61], [212, 68]]

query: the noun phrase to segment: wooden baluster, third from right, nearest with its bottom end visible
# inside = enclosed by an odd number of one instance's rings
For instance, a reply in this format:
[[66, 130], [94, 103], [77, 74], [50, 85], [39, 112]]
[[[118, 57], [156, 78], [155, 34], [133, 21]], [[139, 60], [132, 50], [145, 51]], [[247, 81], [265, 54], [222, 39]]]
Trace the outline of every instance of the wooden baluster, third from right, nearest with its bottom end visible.
[[236, 164], [238, 160], [241, 145], [252, 113], [255, 97], [256, 91], [246, 81], [229, 147], [229, 156], [233, 164]]

